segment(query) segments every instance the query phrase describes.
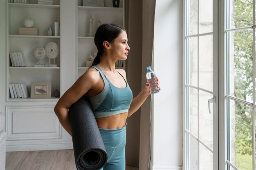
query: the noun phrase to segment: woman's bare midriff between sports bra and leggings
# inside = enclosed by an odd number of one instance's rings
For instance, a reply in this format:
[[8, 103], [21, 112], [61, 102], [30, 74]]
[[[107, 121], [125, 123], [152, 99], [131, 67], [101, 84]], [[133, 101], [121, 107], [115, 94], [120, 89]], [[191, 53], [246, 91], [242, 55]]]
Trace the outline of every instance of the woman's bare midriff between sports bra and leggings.
[[101, 129], [121, 129], [124, 127], [128, 113], [120, 113], [113, 116], [96, 118], [98, 127]]

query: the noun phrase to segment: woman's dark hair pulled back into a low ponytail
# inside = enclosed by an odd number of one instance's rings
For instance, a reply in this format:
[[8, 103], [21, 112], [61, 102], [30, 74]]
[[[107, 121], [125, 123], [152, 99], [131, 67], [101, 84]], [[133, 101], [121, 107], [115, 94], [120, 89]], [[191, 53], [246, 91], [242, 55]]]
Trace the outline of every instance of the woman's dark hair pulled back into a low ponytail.
[[121, 31], [126, 32], [124, 28], [116, 24], [106, 23], [99, 26], [94, 36], [94, 44], [97, 47], [98, 53], [94, 61], [92, 62], [92, 66], [97, 65], [101, 61], [101, 55], [104, 52], [103, 41], [113, 43], [118, 35], [121, 33]]

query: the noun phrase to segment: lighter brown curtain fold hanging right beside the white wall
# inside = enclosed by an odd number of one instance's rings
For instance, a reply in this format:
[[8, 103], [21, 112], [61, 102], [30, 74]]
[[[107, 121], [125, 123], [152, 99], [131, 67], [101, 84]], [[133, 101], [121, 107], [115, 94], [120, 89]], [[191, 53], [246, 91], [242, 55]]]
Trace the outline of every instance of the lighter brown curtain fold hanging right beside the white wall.
[[[155, 20], [155, 0], [143, 0], [142, 9], [142, 71], [141, 87], [146, 83], [146, 67], [152, 65]], [[151, 100], [150, 97], [141, 106], [139, 170], [148, 170], [151, 139]]]

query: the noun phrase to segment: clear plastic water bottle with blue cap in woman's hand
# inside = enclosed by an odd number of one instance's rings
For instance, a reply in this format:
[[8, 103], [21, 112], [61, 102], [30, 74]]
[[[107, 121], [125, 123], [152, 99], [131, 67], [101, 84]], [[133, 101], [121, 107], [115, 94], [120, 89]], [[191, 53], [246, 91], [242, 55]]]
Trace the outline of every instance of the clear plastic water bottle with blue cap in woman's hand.
[[147, 67], [146, 78], [148, 83], [150, 84], [150, 87], [149, 87], [150, 94], [158, 93], [159, 88], [157, 87], [157, 76], [155, 75], [155, 72], [151, 70], [150, 66]]

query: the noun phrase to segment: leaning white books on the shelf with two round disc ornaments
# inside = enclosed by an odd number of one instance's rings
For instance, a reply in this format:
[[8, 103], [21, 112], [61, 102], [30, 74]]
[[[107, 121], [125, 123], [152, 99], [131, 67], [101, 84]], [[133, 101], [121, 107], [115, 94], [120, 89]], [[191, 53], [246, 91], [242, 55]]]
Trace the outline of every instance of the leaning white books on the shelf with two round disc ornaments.
[[25, 59], [23, 52], [9, 52], [11, 66], [13, 67], [25, 67], [27, 66], [27, 61]]

